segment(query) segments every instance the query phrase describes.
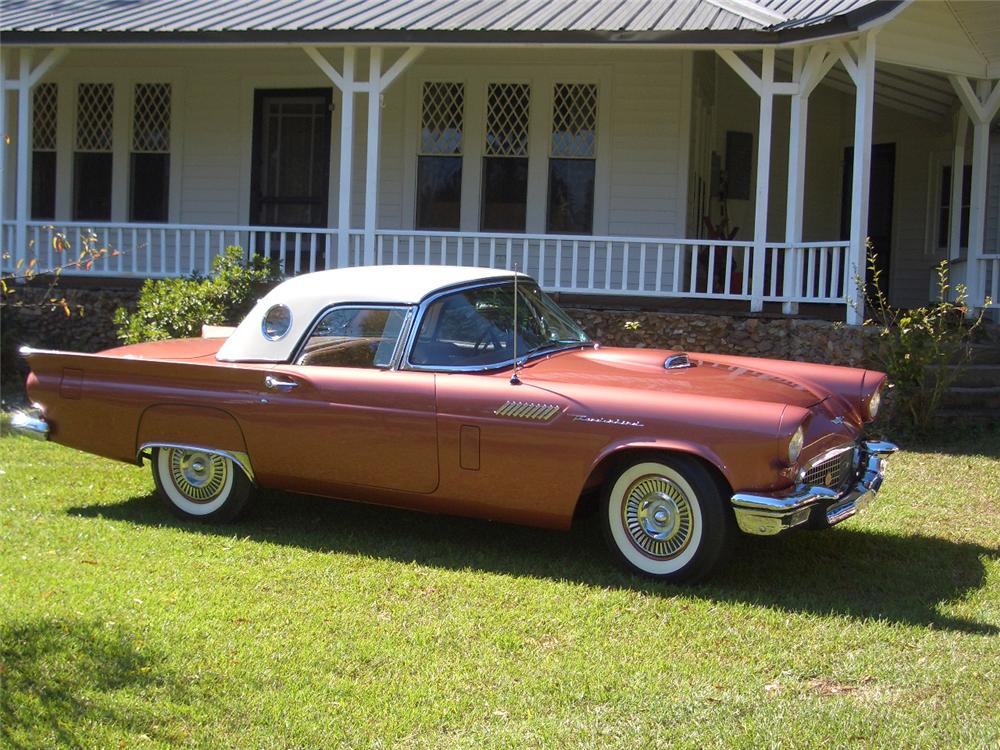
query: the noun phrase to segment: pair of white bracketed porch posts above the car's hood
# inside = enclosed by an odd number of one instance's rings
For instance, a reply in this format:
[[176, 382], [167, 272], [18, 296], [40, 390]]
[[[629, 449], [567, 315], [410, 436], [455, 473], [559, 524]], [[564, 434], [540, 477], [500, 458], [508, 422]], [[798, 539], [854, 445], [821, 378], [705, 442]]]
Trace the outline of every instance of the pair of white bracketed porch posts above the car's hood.
[[[771, 169], [772, 119], [774, 97], [791, 97], [791, 122], [788, 134], [788, 197], [785, 221], [785, 242], [802, 241], [802, 209], [805, 188], [806, 123], [809, 113], [809, 95], [819, 85], [839, 56], [825, 44], [797, 47], [793, 51], [792, 80], [774, 80], [774, 49], [762, 50], [761, 73], [757, 75], [747, 63], [732, 50], [719, 50], [721, 57], [733, 71], [760, 97], [760, 120], [757, 130], [757, 185], [754, 202], [754, 250], [750, 309], [759, 312], [764, 308], [764, 269], [766, 265], [767, 213]], [[794, 296], [799, 286], [795, 278], [798, 264], [793, 255], [785, 253], [782, 294]], [[798, 312], [798, 305], [786, 302], [785, 313]]]

